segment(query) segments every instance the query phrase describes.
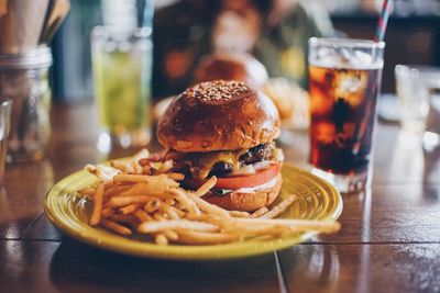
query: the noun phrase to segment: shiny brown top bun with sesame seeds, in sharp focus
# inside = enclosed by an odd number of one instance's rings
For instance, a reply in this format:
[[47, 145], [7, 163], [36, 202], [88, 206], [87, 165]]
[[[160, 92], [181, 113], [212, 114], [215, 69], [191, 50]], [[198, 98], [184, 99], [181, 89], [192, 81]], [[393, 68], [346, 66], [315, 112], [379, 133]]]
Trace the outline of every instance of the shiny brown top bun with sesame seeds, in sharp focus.
[[270, 98], [240, 81], [196, 84], [177, 95], [157, 124], [157, 139], [178, 151], [251, 148], [279, 135]]

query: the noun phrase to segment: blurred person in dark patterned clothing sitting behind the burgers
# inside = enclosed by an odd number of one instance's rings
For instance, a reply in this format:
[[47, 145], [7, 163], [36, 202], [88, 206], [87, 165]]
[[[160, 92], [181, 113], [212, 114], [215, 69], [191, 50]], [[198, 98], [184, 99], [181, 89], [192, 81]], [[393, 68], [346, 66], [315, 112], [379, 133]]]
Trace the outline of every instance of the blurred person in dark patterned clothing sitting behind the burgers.
[[333, 34], [326, 11], [298, 0], [180, 0], [154, 18], [153, 94], [180, 92], [194, 81], [202, 56], [250, 53], [301, 87], [307, 83], [307, 42]]

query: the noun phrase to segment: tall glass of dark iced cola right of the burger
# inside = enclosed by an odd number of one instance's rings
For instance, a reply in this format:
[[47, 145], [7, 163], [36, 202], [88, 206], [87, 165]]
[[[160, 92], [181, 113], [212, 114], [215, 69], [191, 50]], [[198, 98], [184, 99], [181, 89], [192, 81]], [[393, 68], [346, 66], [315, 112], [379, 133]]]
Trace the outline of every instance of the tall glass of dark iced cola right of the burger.
[[372, 136], [385, 44], [310, 38], [310, 162], [343, 193], [371, 183]]

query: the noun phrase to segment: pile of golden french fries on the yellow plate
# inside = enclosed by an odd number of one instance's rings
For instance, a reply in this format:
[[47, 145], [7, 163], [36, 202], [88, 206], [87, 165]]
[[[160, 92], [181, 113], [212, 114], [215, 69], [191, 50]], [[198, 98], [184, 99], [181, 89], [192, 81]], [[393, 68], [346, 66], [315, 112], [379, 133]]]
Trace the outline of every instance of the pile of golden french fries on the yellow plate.
[[78, 191], [94, 203], [90, 225], [120, 235], [147, 234], [158, 245], [217, 245], [340, 228], [338, 222], [275, 218], [296, 200], [295, 195], [271, 210], [223, 210], [201, 199], [216, 185], [216, 177], [196, 191], [185, 190], [179, 187], [184, 174], [172, 172], [173, 161], [154, 161], [145, 149], [128, 160], [85, 169], [99, 180]]

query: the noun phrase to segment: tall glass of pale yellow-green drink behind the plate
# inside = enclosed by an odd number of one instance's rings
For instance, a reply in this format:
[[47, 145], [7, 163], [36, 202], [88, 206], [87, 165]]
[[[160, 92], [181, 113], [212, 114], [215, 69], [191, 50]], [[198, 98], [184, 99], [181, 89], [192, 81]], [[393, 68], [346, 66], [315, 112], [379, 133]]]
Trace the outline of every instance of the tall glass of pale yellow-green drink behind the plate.
[[145, 146], [151, 139], [151, 29], [97, 26], [91, 47], [102, 131], [98, 148]]

